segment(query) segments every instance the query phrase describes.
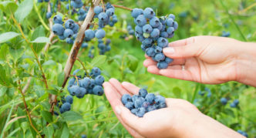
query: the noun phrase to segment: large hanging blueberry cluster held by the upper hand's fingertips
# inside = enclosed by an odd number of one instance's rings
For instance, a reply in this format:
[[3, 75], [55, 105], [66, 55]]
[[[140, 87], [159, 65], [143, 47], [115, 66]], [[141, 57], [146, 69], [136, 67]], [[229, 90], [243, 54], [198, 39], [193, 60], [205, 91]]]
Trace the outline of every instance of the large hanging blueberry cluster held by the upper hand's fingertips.
[[178, 28], [175, 15], [157, 18], [152, 8], [134, 8], [131, 14], [136, 23], [136, 39], [142, 42], [141, 49], [157, 62], [158, 69], [167, 69], [173, 59], [163, 55], [163, 48], [168, 46], [167, 39], [172, 38]]

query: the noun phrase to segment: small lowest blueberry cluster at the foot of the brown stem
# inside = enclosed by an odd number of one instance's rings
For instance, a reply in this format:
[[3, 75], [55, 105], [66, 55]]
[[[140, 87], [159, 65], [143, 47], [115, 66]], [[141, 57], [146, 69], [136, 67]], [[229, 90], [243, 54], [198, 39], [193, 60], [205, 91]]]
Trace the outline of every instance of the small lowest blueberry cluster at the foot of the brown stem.
[[[60, 113], [65, 113], [66, 111], [69, 111], [71, 109], [71, 105], [73, 103], [73, 97], [72, 96], [66, 96], [63, 97], [61, 100], [61, 103], [58, 101], [57, 105], [59, 107]], [[59, 115], [57, 112], [54, 112], [57, 116]]]

